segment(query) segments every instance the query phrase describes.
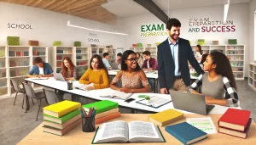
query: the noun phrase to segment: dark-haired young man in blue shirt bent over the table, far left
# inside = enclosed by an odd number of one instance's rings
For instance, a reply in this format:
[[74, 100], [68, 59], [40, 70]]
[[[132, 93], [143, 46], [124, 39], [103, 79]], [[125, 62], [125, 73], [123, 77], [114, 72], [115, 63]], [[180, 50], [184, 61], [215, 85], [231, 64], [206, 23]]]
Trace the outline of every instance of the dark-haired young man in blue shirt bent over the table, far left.
[[34, 59], [34, 66], [31, 70], [27, 73], [26, 77], [32, 78], [32, 77], [51, 77], [53, 76], [53, 70], [48, 63], [44, 63], [44, 61], [37, 57]]

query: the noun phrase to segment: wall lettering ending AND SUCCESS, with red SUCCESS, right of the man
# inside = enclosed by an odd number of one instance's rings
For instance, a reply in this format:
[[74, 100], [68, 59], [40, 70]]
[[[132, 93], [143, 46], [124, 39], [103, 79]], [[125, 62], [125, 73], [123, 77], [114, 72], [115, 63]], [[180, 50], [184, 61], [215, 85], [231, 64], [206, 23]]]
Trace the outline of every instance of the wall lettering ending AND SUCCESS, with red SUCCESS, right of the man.
[[234, 32], [233, 20], [210, 20], [210, 18], [189, 19], [189, 32]]

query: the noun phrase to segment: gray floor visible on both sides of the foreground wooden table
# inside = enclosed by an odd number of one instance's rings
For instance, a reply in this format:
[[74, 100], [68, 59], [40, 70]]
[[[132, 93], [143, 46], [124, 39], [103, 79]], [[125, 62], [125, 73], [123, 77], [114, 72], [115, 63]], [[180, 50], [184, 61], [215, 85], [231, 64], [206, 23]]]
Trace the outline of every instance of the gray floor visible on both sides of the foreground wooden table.
[[[246, 81], [236, 81], [238, 86], [238, 95], [241, 103], [241, 109], [248, 109], [252, 112], [252, 118], [256, 120], [256, 93]], [[39, 113], [38, 121], [36, 114], [38, 105], [32, 105], [31, 109], [25, 113], [25, 109], [21, 109], [22, 97], [17, 98], [15, 106], [14, 98], [0, 99], [0, 144], [12, 145], [20, 142], [20, 140], [32, 131], [43, 121], [42, 113]], [[32, 103], [31, 103], [32, 104]], [[43, 103], [45, 106], [45, 103]]]

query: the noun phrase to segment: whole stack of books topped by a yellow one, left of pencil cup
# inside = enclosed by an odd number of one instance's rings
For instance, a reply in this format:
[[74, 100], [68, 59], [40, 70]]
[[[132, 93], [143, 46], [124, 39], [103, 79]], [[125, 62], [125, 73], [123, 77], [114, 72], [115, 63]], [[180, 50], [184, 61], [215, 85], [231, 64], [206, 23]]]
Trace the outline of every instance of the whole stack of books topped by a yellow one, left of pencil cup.
[[75, 126], [80, 125], [82, 122], [80, 107], [81, 103], [68, 100], [44, 107], [43, 131], [63, 136]]

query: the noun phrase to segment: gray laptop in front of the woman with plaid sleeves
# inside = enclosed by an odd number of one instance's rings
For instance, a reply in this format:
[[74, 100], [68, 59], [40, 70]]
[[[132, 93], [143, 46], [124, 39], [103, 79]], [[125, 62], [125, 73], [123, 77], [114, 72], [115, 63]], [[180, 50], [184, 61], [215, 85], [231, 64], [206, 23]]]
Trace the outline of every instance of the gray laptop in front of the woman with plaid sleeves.
[[193, 112], [195, 114], [207, 115], [215, 107], [208, 105], [205, 101], [205, 95], [194, 94], [190, 92], [177, 92], [170, 90], [174, 109]]

